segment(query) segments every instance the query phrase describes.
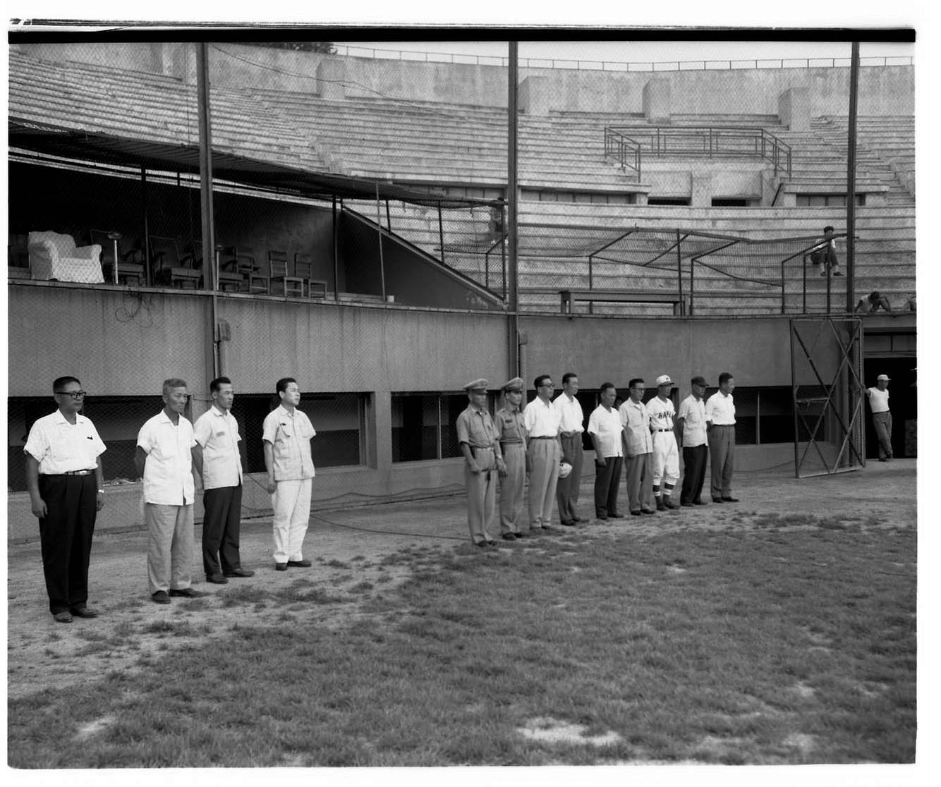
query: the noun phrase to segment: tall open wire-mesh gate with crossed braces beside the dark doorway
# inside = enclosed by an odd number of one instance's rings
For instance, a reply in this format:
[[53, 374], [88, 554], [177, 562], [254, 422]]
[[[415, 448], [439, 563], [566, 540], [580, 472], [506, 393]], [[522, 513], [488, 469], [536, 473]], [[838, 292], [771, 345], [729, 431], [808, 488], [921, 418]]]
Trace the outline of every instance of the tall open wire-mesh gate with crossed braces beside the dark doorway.
[[863, 323], [858, 318], [790, 321], [794, 475], [866, 466]]

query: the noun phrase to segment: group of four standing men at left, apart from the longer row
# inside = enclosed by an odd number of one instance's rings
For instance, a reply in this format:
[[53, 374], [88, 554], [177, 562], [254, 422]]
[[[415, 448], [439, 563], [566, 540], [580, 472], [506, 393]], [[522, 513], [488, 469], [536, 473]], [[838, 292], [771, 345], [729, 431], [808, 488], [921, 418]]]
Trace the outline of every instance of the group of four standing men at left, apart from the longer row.
[[[137, 433], [135, 464], [143, 479], [142, 505], [148, 530], [147, 575], [152, 600], [201, 595], [192, 587], [193, 503], [203, 489], [202, 563], [206, 580], [226, 584], [248, 577], [242, 568], [239, 531], [242, 510], [241, 436], [231, 415], [234, 391], [228, 377], [210, 383], [212, 406], [191, 424], [183, 412], [186, 383], [163, 384], [164, 408]], [[274, 509], [275, 569], [307, 568], [302, 546], [311, 512], [314, 467], [311, 419], [297, 409], [300, 388], [293, 377], [276, 385], [279, 406], [263, 423], [265, 488]], [[104, 506], [105, 445], [88, 417], [79, 414], [86, 391], [76, 377], [53, 383], [57, 409], [38, 418], [24, 446], [26, 488], [40, 523], [42, 570], [49, 611], [56, 622], [95, 618], [88, 606], [88, 563], [96, 513]]]

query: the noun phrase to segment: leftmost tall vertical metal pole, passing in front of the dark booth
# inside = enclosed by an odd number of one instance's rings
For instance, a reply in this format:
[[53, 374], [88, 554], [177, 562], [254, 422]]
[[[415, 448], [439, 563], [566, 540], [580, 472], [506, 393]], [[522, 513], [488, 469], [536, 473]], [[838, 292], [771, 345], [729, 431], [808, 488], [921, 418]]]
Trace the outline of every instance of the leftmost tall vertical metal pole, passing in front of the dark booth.
[[207, 366], [213, 369], [212, 378], [219, 376], [218, 342], [215, 338], [215, 324], [217, 321], [218, 303], [215, 282], [215, 266], [212, 264], [212, 253], [215, 248], [215, 232], [213, 229], [213, 137], [212, 122], [209, 116], [209, 57], [206, 53], [206, 44], [199, 42], [197, 52], [197, 97], [199, 100], [199, 211], [202, 220], [202, 284], [207, 290], [213, 292], [209, 309], [209, 326], [207, 341], [210, 353], [207, 352]]

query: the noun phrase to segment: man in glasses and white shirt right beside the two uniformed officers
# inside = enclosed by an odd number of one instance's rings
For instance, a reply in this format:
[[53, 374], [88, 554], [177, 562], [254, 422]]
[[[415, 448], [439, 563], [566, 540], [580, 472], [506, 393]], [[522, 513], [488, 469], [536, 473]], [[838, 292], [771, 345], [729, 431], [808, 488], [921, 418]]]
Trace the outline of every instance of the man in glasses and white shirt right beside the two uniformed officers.
[[534, 380], [536, 398], [523, 410], [526, 427], [526, 460], [529, 465], [530, 532], [551, 532], [552, 501], [559, 481], [562, 445], [559, 428], [562, 417], [552, 406], [555, 386], [548, 374]]

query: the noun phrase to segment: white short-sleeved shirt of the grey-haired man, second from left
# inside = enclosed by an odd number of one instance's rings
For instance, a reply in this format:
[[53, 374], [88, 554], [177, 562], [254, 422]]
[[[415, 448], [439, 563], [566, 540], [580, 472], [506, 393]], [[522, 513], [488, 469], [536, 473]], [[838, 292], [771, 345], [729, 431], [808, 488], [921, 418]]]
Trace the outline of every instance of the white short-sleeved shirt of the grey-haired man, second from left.
[[183, 416], [174, 424], [161, 410], [140, 428], [137, 445], [147, 451], [144, 502], [160, 506], [192, 504], [196, 496], [193, 425]]

